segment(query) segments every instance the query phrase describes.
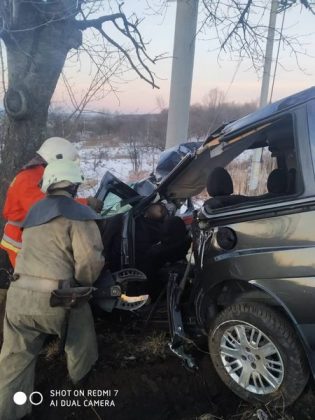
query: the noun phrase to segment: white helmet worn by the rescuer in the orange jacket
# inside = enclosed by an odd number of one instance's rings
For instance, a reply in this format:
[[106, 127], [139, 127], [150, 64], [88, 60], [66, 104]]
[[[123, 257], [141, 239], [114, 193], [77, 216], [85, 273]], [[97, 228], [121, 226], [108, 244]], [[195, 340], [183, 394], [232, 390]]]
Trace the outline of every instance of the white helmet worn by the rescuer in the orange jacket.
[[63, 139], [62, 137], [50, 137], [45, 140], [37, 150], [37, 154], [39, 154], [47, 163], [61, 159], [80, 162], [77, 149], [70, 141]]

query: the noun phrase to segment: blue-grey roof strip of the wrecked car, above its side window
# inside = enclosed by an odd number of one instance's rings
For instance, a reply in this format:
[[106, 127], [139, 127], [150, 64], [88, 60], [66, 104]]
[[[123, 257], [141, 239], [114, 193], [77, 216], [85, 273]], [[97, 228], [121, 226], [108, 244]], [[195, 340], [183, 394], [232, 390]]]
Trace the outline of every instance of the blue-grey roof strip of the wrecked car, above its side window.
[[274, 116], [278, 112], [283, 112], [286, 109], [296, 107], [297, 105], [300, 105], [314, 98], [315, 86], [312, 86], [309, 89], [303, 90], [301, 92], [295, 93], [294, 95], [287, 96], [286, 98], [280, 99], [277, 102], [266, 105], [263, 108], [260, 108], [257, 111], [246, 115], [243, 118], [240, 118], [236, 121], [224, 125], [221, 128], [221, 130], [216, 130], [215, 132], [211, 133], [205, 141], [205, 144], [211, 142], [218, 135], [220, 137], [225, 137], [229, 136], [234, 132], [242, 131], [246, 127], [256, 125], [259, 121], [266, 120]]

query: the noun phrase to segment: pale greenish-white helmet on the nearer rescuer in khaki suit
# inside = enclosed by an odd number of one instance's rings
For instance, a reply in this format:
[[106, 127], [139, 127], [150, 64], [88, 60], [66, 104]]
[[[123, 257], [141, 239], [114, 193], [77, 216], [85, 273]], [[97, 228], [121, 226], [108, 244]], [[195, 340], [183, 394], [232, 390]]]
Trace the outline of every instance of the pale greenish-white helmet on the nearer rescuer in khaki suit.
[[82, 184], [83, 181], [84, 176], [78, 163], [65, 159], [55, 160], [45, 168], [41, 190], [46, 193], [48, 190]]

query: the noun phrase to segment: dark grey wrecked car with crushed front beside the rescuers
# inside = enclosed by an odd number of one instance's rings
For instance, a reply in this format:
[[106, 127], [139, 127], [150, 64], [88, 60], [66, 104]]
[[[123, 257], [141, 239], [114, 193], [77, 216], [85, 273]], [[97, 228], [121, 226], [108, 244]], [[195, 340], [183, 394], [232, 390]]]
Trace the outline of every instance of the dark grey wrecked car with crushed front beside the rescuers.
[[135, 267], [145, 209], [207, 191], [188, 209], [185, 269], [168, 267], [171, 349], [196, 368], [191, 343], [206, 342], [222, 381], [251, 402], [288, 405], [315, 375], [314, 165], [311, 88], [220, 127], [161, 182], [107, 174], [97, 194], [108, 214], [116, 206], [116, 265]]

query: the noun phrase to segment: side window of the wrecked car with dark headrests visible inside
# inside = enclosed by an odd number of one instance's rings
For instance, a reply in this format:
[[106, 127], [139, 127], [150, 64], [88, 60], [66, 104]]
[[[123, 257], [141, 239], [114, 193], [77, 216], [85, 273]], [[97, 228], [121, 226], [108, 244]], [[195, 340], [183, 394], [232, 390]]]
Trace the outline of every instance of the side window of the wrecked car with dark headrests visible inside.
[[[259, 181], [253, 186], [251, 176], [255, 161], [258, 177], [257, 172], [254, 175]], [[250, 147], [225, 167], [211, 170], [207, 180], [210, 198], [204, 207], [213, 211], [229, 206], [257, 205], [265, 200], [285, 200], [301, 190], [293, 121], [287, 115], [253, 134]]]

